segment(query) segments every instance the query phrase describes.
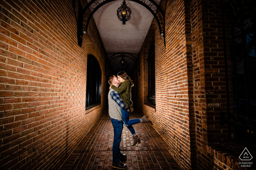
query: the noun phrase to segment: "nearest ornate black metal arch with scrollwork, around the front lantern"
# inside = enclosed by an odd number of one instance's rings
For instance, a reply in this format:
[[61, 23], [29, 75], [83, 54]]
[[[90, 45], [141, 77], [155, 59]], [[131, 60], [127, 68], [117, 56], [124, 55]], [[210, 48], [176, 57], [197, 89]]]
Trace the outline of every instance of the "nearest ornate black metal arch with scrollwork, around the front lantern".
[[[87, 32], [89, 22], [95, 11], [97, 11], [103, 5], [116, 0], [103, 0], [98, 2], [98, 0], [91, 0], [84, 9], [79, 5], [78, 9], [78, 45], [82, 46], [83, 35]], [[165, 13], [159, 7], [159, 5], [154, 0], [130, 0], [139, 3], [146, 7], [155, 17], [159, 27], [159, 33], [163, 36], [165, 44]], [[149, 5], [148, 5], [149, 4]], [[155, 10], [153, 8], [156, 8]]]

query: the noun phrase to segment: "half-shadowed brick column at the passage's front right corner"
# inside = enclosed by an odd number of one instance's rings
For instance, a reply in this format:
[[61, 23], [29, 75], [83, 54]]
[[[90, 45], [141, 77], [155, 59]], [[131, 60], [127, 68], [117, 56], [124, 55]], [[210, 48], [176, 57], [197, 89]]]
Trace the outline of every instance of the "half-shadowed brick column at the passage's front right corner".
[[[208, 144], [228, 140], [227, 127], [220, 126], [219, 121], [219, 111], [227, 110], [222, 18], [221, 14], [217, 14], [220, 10], [221, 2], [217, 0], [191, 1], [197, 166], [205, 170], [212, 167], [210, 155], [207, 154]], [[225, 27], [227, 35], [227, 23]], [[228, 49], [227, 52], [230, 61]], [[228, 62], [228, 69], [231, 86], [231, 62]], [[231, 89], [229, 87], [230, 94]]]

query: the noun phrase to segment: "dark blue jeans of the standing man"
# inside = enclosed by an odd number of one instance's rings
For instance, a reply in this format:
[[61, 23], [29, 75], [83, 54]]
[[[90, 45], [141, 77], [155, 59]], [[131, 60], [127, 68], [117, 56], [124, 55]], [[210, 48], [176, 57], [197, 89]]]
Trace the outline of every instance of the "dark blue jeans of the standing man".
[[120, 142], [121, 142], [121, 136], [122, 136], [122, 130], [123, 130], [123, 122], [122, 120], [116, 120], [110, 118], [111, 123], [114, 128], [114, 141], [113, 141], [113, 163], [120, 162]]

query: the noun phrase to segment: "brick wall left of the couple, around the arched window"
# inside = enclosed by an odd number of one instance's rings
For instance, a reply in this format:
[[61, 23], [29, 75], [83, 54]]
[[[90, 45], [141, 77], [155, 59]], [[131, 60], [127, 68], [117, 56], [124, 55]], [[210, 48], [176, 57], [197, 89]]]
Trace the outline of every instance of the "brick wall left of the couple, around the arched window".
[[[0, 3], [0, 169], [56, 169], [106, 107], [106, 52], [93, 19], [78, 46], [77, 9]], [[87, 54], [101, 66], [102, 102], [85, 111]]]

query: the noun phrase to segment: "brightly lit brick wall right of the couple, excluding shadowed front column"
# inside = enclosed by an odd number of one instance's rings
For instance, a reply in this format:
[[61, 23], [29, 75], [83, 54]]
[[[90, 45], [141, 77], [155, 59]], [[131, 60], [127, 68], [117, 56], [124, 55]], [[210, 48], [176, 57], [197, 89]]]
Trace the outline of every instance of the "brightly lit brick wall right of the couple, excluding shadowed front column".
[[[149, 44], [143, 44], [140, 51], [140, 60], [143, 60], [143, 73], [139, 76], [140, 88], [136, 102], [138, 109], [150, 116], [156, 130], [161, 134], [168, 144], [168, 150], [177, 158], [183, 169], [193, 167], [191, 161], [196, 154], [195, 133], [191, 130], [193, 116], [189, 114], [189, 94], [191, 90], [188, 84], [191, 80], [191, 34], [186, 30], [187, 11], [183, 0], [161, 1], [160, 5], [165, 10], [166, 19], [166, 48], [163, 37], [159, 35], [157, 22], [153, 20], [151, 29], [155, 29], [155, 82], [156, 82], [156, 107], [148, 106], [147, 99], [147, 49]], [[186, 4], [189, 6], [189, 4]], [[189, 20], [190, 21], [190, 20]], [[189, 24], [189, 23], [188, 23]], [[148, 38], [151, 36], [148, 32]], [[143, 51], [143, 52], [142, 52]], [[143, 55], [142, 55], [143, 54]], [[192, 79], [192, 78], [190, 78]], [[143, 85], [142, 85], [143, 84]], [[134, 94], [135, 95], [135, 94]], [[141, 99], [144, 103], [141, 103]], [[191, 106], [192, 107], [192, 106]], [[195, 166], [194, 166], [195, 167]]]

